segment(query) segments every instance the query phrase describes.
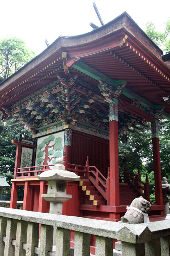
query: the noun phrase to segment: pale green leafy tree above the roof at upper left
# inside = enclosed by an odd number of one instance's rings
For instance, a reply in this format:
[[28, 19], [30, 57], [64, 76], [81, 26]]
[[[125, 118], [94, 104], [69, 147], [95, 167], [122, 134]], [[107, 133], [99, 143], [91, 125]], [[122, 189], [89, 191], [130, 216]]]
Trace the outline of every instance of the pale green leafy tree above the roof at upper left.
[[[5, 80], [35, 57], [33, 50], [16, 37], [0, 40], [0, 76]], [[1, 80], [2, 80], [1, 78]]]

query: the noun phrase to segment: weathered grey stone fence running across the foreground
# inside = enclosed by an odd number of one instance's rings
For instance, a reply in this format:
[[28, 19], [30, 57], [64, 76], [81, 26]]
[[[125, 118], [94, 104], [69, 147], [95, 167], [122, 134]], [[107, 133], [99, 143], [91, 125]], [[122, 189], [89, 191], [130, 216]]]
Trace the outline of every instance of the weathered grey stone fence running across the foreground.
[[74, 256], [90, 255], [91, 234], [96, 235], [96, 256], [113, 255], [113, 239], [122, 241], [122, 256], [169, 255], [168, 219], [133, 225], [0, 207], [0, 256], [70, 256], [71, 230]]

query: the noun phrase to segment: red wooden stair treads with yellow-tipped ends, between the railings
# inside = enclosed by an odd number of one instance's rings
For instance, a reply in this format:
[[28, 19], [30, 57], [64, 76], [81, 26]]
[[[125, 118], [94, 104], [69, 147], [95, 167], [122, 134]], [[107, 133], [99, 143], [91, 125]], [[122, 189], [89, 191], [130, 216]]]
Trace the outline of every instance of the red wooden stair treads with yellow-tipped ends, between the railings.
[[[94, 206], [104, 206], [107, 205], [106, 199], [100, 194], [100, 192], [95, 188], [91, 181], [88, 179], [83, 179], [79, 181], [79, 185], [82, 187], [82, 191], [89, 198], [90, 203]], [[120, 189], [120, 205], [130, 205], [133, 199], [138, 197], [137, 192], [126, 183], [119, 185]]]

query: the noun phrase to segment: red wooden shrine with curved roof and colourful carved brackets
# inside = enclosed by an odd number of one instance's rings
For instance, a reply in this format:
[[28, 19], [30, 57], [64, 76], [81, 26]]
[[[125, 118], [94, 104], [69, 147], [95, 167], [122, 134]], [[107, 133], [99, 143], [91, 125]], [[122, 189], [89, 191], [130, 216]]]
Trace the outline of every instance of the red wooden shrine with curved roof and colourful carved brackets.
[[170, 119], [170, 63], [125, 12], [94, 31], [59, 37], [44, 52], [0, 84], [0, 111], [10, 125], [26, 125], [33, 141], [17, 145], [11, 208], [24, 186], [23, 209], [48, 212], [37, 174], [63, 157], [81, 176], [68, 182], [73, 198], [63, 214], [118, 221], [137, 196], [149, 200], [148, 177], [119, 175], [119, 135], [151, 123], [156, 204], [150, 218], [164, 218], [158, 123]]

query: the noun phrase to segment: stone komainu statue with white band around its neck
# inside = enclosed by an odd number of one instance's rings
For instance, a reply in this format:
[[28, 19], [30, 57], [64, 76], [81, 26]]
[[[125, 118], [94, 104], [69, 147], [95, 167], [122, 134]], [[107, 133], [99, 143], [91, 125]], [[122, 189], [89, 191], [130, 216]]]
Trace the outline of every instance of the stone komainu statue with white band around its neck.
[[128, 210], [124, 217], [121, 217], [120, 222], [131, 224], [149, 222], [148, 212], [151, 209], [151, 204], [142, 196], [135, 198], [126, 209]]

